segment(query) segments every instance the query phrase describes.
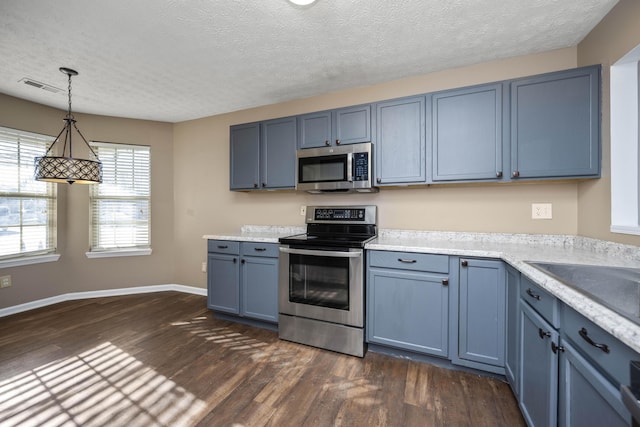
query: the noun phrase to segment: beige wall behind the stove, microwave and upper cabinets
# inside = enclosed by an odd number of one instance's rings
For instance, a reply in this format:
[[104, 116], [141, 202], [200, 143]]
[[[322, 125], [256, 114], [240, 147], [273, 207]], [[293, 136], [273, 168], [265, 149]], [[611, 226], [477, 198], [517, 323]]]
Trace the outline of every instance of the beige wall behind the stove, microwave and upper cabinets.
[[[377, 194], [229, 191], [229, 126], [576, 67], [576, 48], [478, 64], [390, 83], [179, 123], [174, 128], [176, 278], [205, 286], [203, 234], [243, 224], [303, 225], [300, 205], [375, 204], [383, 228], [576, 234], [577, 184], [485, 184], [383, 188]], [[554, 218], [531, 220], [531, 203]]]

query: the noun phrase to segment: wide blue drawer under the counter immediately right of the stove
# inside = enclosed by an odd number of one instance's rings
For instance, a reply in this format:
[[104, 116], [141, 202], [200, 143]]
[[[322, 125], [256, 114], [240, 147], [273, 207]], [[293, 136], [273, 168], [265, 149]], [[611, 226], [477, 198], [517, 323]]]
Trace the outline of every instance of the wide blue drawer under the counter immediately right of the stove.
[[448, 273], [449, 256], [413, 252], [370, 251], [369, 265], [401, 270]]

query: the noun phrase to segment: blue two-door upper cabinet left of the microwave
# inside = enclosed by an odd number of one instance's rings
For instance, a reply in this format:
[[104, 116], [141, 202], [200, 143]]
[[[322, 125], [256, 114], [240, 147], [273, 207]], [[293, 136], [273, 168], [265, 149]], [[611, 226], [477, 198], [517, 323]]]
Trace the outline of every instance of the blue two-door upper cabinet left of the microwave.
[[295, 187], [295, 117], [231, 126], [230, 189]]

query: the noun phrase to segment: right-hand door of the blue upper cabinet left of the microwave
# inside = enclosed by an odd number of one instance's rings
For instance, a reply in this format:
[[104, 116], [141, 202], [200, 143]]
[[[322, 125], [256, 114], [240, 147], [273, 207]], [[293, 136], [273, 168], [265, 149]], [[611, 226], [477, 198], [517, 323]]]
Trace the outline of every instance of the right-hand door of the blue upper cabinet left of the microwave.
[[294, 188], [296, 179], [295, 117], [262, 123], [260, 175], [262, 188]]

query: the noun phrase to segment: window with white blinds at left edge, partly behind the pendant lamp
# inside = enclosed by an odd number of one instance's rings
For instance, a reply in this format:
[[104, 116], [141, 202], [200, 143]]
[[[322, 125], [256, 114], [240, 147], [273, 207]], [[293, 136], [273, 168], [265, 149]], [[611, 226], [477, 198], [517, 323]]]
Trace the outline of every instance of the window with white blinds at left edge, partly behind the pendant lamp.
[[56, 186], [33, 177], [53, 139], [0, 127], [0, 266], [56, 250]]

